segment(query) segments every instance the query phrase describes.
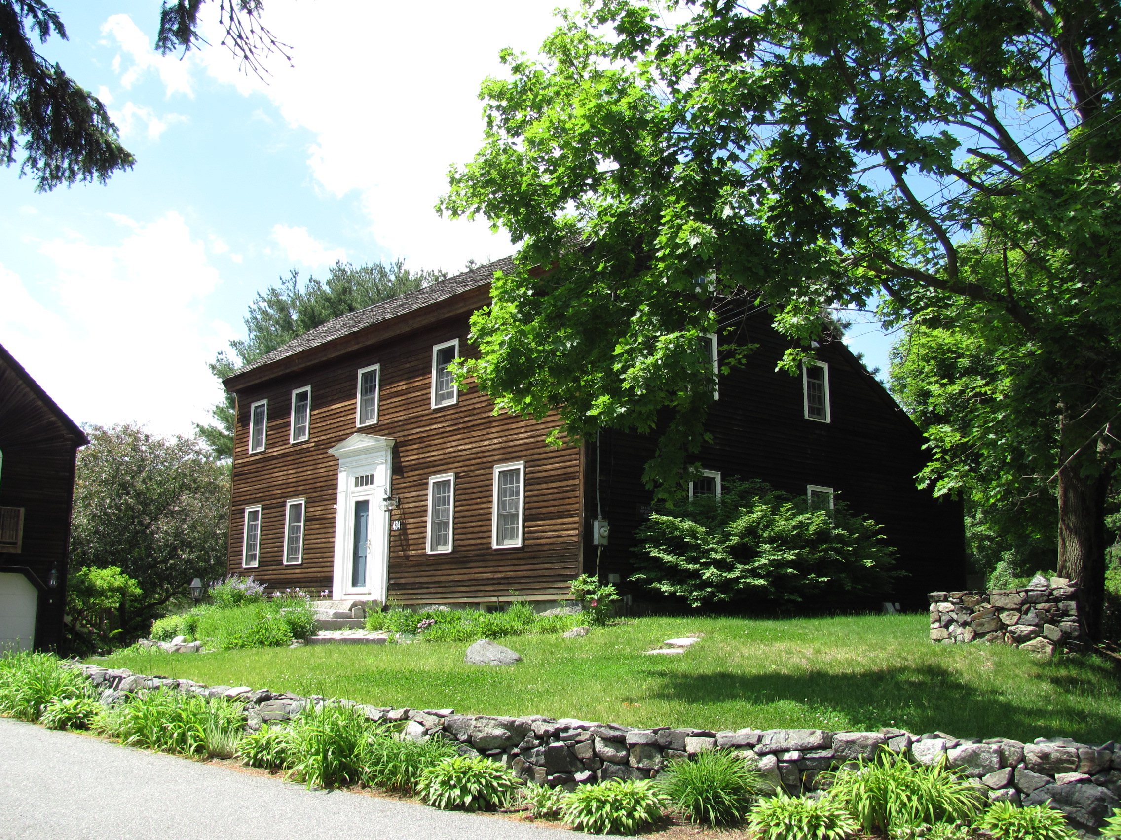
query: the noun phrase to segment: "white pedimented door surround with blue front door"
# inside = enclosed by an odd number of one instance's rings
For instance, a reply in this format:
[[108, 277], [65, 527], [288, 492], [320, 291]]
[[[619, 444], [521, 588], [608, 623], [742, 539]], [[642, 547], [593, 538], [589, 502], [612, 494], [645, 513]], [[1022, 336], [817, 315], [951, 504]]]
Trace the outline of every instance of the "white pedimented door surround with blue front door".
[[392, 492], [395, 442], [392, 438], [356, 432], [330, 450], [339, 459], [331, 596], [334, 600], [358, 598], [386, 603], [389, 511], [382, 510], [382, 501]]

